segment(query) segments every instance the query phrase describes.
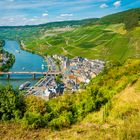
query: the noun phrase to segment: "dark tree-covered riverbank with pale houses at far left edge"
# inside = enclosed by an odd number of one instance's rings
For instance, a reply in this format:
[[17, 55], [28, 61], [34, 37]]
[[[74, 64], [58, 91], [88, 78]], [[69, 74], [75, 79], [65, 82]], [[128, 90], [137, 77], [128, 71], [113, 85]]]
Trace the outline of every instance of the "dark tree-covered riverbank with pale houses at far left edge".
[[5, 41], [1, 41], [0, 44], [0, 53], [1, 53], [1, 59], [0, 59], [0, 71], [7, 72], [9, 69], [13, 66], [15, 62], [15, 56], [3, 49], [5, 45]]

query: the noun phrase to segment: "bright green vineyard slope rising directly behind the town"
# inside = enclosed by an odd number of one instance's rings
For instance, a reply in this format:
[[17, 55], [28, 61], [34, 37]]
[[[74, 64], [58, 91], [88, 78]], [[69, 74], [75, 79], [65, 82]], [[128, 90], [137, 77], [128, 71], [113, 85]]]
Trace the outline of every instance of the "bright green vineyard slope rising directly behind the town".
[[140, 52], [140, 27], [126, 32], [123, 24], [92, 25], [53, 34], [45, 38], [28, 39], [24, 43], [27, 49], [42, 55], [62, 54], [120, 61], [128, 57], [140, 57], [137, 54]]

